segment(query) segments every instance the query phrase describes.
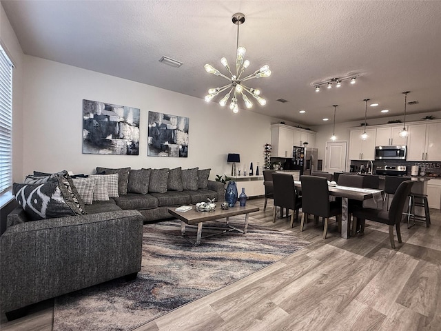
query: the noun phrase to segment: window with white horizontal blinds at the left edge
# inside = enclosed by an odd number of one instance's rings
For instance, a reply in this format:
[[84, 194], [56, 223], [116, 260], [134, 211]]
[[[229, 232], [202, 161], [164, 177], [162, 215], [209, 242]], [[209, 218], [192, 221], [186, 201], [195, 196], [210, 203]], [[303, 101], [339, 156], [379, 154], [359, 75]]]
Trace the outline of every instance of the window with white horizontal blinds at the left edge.
[[12, 186], [12, 62], [0, 46], [0, 194]]

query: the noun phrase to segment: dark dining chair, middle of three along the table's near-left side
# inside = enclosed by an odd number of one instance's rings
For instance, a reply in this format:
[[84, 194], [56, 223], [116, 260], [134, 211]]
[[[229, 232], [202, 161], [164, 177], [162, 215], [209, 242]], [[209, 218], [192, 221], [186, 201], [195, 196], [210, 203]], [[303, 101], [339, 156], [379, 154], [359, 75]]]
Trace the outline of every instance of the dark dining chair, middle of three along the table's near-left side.
[[[276, 221], [277, 207], [280, 207], [280, 210], [287, 208], [287, 214], [289, 214], [289, 210], [292, 210], [290, 224], [292, 228], [294, 215], [298, 219], [298, 210], [302, 207], [302, 198], [296, 194], [294, 177], [291, 174], [279, 174], [277, 172], [274, 172], [272, 177], [274, 186], [273, 222]], [[282, 213], [280, 217], [281, 215]]]

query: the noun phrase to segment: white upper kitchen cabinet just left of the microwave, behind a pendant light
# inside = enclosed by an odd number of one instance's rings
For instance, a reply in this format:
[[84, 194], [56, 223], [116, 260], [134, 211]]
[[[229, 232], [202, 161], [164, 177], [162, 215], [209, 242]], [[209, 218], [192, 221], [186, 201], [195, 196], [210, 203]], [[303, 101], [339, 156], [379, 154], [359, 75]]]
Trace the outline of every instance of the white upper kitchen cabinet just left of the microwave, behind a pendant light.
[[366, 129], [366, 140], [360, 138], [365, 129], [353, 129], [349, 133], [349, 159], [350, 160], [373, 160], [375, 157], [376, 129]]

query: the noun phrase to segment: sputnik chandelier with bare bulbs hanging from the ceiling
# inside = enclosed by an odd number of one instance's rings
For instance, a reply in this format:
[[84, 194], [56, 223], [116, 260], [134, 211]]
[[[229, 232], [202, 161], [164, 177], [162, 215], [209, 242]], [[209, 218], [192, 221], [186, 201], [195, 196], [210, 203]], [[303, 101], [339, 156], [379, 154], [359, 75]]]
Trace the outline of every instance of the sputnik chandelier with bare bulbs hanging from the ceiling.
[[236, 12], [236, 14], [233, 15], [232, 21], [234, 24], [237, 25], [237, 42], [236, 42], [236, 50], [237, 50], [237, 56], [236, 56], [236, 71], [233, 73], [231, 68], [228, 65], [227, 59], [223, 57], [220, 59], [220, 63], [225, 67], [227, 72], [230, 74], [230, 77], [227, 77], [225, 74], [220, 72], [219, 70], [213, 68], [213, 66], [209, 64], [205, 64], [204, 68], [205, 71], [207, 71], [209, 74], [215, 74], [216, 76], [223, 77], [229, 81], [229, 83], [225, 86], [222, 86], [220, 88], [210, 88], [208, 90], [208, 95], [205, 96], [205, 101], [209, 102], [212, 101], [216, 95], [219, 93], [229, 89], [229, 92], [225, 94], [225, 96], [220, 99], [219, 104], [220, 106], [224, 107], [227, 104], [227, 101], [229, 100], [229, 97], [233, 93], [233, 97], [231, 99], [231, 102], [229, 103], [229, 109], [231, 109], [234, 113], [237, 113], [239, 111], [237, 100], [240, 95], [242, 95], [243, 102], [245, 103], [245, 107], [252, 108], [253, 103], [249, 98], [247, 97], [247, 92], [249, 95], [254, 97], [254, 99], [257, 100], [258, 103], [260, 103], [260, 106], [265, 106], [267, 101], [260, 97], [260, 90], [254, 89], [254, 88], [248, 88], [247, 86], [243, 85], [244, 81], [248, 81], [249, 79], [254, 78], [260, 78], [260, 77], [269, 77], [271, 75], [271, 70], [269, 70], [269, 67], [267, 65], [263, 66], [259, 70], [256, 70], [252, 74], [249, 74], [246, 77], [242, 77], [243, 72], [248, 68], [249, 61], [245, 60], [245, 48], [239, 47], [239, 26], [240, 24], [243, 24], [245, 22], [245, 15], [241, 12]]

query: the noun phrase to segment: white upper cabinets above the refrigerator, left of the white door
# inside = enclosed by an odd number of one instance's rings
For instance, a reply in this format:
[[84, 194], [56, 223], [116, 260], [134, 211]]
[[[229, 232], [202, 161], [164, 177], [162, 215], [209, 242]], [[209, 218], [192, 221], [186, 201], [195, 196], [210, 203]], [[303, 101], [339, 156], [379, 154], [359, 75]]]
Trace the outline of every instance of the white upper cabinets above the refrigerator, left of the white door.
[[307, 147], [314, 148], [316, 132], [283, 124], [273, 124], [271, 126], [271, 157], [292, 158], [293, 146], [303, 146], [305, 142], [308, 143]]

